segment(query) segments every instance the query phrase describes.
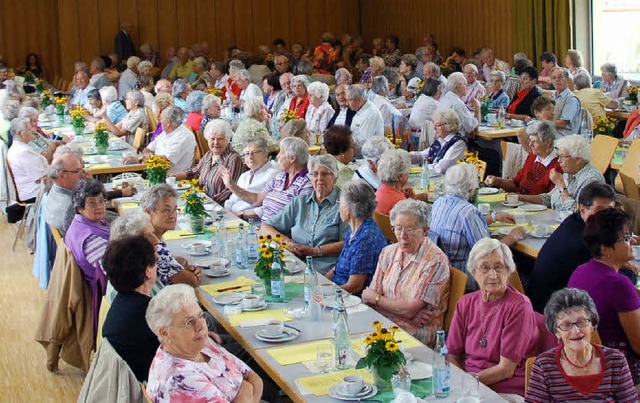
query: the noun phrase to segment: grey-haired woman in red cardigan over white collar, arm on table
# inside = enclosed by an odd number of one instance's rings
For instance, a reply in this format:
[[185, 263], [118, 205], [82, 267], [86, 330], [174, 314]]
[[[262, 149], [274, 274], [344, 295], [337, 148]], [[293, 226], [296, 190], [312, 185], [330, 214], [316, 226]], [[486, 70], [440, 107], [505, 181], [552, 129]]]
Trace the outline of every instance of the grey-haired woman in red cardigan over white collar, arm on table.
[[558, 154], [553, 147], [556, 138], [555, 125], [547, 120], [536, 121], [527, 127], [531, 153], [524, 166], [512, 179], [487, 176], [485, 183], [506, 192], [537, 195], [551, 192], [555, 184], [549, 177], [552, 170], [562, 172]]

